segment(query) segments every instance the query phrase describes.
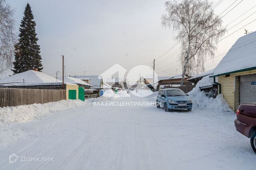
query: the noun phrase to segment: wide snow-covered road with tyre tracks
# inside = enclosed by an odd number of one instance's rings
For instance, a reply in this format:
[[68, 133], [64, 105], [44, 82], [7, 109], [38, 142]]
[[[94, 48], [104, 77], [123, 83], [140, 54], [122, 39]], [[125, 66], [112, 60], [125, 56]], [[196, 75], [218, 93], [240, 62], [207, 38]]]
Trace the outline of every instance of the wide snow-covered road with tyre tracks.
[[[115, 101], [149, 101], [118, 98]], [[5, 169], [256, 169], [250, 141], [235, 115], [206, 110], [165, 112], [155, 106], [84, 106], [13, 124], [25, 139], [0, 148]], [[8, 156], [19, 156], [15, 163]], [[26, 158], [53, 161], [20, 162]]]

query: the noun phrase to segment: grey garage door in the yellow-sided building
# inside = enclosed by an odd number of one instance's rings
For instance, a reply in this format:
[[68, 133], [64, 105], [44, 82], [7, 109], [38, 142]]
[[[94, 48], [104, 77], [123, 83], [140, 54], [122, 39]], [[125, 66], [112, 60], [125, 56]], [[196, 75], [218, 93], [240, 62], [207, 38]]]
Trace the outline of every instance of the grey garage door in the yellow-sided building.
[[256, 74], [240, 76], [240, 104], [256, 102]]

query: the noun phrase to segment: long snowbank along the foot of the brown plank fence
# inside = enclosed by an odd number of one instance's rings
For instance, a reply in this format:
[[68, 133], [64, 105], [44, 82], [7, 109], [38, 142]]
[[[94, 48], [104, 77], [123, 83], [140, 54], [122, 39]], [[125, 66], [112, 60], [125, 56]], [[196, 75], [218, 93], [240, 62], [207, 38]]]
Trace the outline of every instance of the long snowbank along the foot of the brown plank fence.
[[62, 100], [45, 104], [30, 104], [15, 107], [0, 108], [0, 144], [4, 145], [21, 139], [24, 132], [18, 128], [11, 128], [13, 123], [24, 123], [34, 119], [40, 119], [51, 112], [70, 109], [86, 104], [81, 100]]

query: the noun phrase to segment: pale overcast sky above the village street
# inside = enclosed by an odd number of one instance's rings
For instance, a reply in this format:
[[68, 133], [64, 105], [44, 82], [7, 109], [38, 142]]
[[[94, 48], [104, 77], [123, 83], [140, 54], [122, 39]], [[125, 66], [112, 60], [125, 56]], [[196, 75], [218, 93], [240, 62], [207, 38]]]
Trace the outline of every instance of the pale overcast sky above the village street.
[[[180, 1], [180, 0], [178, 0]], [[220, 14], [235, 0], [223, 0], [215, 9]], [[161, 26], [166, 0], [7, 0], [16, 9], [17, 33], [26, 3], [29, 2], [36, 21], [38, 44], [41, 47], [43, 72], [55, 76], [62, 70], [61, 55], [65, 56], [67, 75], [99, 75], [118, 63], [127, 70], [140, 64], [150, 64], [176, 43], [172, 30]], [[213, 2], [218, 2], [214, 0]], [[240, 2], [238, 0], [235, 4]], [[234, 5], [235, 5], [234, 4]], [[233, 6], [234, 6], [233, 5]], [[228, 24], [256, 5], [254, 0], [243, 0], [223, 18]], [[232, 7], [230, 7], [231, 9]], [[228, 29], [256, 11], [234, 21]], [[228, 12], [228, 10], [227, 10]], [[224, 13], [225, 14], [225, 13]], [[256, 14], [228, 31], [233, 33], [254, 20]], [[255, 31], [256, 21], [245, 28]], [[216, 56], [226, 53], [235, 41], [244, 35], [244, 29], [221, 41]], [[158, 76], [181, 73], [177, 56], [171, 54], [156, 60]], [[171, 55], [172, 57], [168, 57]], [[206, 62], [212, 69], [224, 57]], [[165, 72], [163, 72], [165, 71]]]

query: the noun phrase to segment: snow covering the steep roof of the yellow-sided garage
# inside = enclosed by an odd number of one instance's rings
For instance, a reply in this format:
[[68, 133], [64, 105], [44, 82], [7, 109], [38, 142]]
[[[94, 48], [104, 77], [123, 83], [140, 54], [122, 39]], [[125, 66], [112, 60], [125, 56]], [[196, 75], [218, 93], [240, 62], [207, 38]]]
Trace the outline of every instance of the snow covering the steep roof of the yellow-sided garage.
[[213, 75], [256, 67], [256, 31], [240, 37], [213, 71]]

